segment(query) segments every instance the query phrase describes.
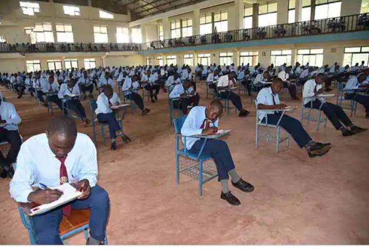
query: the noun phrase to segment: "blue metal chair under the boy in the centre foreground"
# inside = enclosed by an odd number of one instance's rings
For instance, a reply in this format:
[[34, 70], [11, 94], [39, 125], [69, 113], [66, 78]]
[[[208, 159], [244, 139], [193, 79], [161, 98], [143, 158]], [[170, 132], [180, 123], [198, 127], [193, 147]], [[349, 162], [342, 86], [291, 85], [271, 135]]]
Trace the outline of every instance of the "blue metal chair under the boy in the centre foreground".
[[[216, 168], [214, 167], [207, 167], [204, 170], [204, 162], [210, 161], [212, 157], [207, 154], [203, 154], [202, 150], [207, 142], [207, 138], [204, 138], [204, 142], [202, 144], [202, 148], [198, 154], [192, 153], [187, 150], [186, 148], [186, 138], [185, 136], [181, 135], [180, 131], [182, 129], [183, 123], [185, 123], [187, 116], [180, 117], [173, 119], [174, 123], [174, 129], [176, 132], [176, 138], [175, 138], [175, 147], [176, 147], [176, 182], [179, 184], [179, 173], [188, 175], [192, 178], [195, 178], [199, 180], [199, 195], [202, 195], [202, 185], [204, 183], [209, 182], [211, 179], [218, 176], [218, 172]], [[185, 138], [185, 145], [183, 146], [183, 149], [179, 149], [179, 137]], [[196, 161], [196, 163], [182, 163], [180, 165], [179, 162], [179, 156], [185, 157], [185, 159], [190, 159], [192, 161]], [[208, 162], [209, 162], [208, 161]], [[212, 161], [213, 162], [213, 161]]]

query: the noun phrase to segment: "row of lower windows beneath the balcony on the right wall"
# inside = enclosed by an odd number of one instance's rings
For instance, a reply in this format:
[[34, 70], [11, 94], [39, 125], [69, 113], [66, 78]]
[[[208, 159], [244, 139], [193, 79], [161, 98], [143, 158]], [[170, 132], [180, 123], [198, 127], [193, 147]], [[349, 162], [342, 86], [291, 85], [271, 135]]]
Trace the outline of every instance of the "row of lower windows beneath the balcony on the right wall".
[[[163, 65], [163, 57], [157, 56], [156, 62], [154, 57], [147, 57], [146, 63], [148, 65], [159, 64]], [[176, 64], [177, 57], [175, 55], [167, 56], [166, 64]], [[273, 50], [271, 51], [270, 62], [275, 66], [282, 65], [286, 63], [291, 65], [292, 62], [292, 50]], [[259, 60], [259, 52], [240, 52], [239, 63], [240, 65], [256, 65]], [[297, 61], [301, 65], [306, 65], [309, 63], [311, 66], [321, 66], [323, 65], [323, 49], [299, 49], [297, 50]], [[345, 48], [344, 58], [342, 65], [355, 65], [355, 63], [361, 63], [364, 61], [364, 65], [369, 63], [369, 47], [354, 47]], [[183, 55], [183, 63], [193, 66], [193, 55], [185, 54]], [[211, 54], [197, 54], [197, 63], [204, 66], [211, 65]], [[222, 52], [219, 53], [219, 65], [230, 65], [233, 63], [233, 53], [232, 52]]]

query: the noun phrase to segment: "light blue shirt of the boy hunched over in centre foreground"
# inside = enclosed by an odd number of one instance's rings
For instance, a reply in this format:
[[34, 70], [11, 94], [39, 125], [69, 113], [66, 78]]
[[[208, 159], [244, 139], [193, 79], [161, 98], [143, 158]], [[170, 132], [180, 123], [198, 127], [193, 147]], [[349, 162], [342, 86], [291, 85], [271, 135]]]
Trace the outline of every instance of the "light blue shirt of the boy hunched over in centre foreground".
[[[189, 115], [187, 116], [185, 123], [182, 125], [181, 134], [183, 136], [191, 136], [191, 135], [200, 135], [202, 133], [202, 129], [200, 128], [203, 121], [206, 119], [205, 115], [205, 106], [195, 106], [190, 110]], [[214, 122], [214, 125], [211, 123], [210, 127], [215, 126], [218, 127], [219, 119]], [[206, 127], [206, 122], [204, 126]], [[199, 140], [198, 138], [184, 138], [182, 137], [182, 142], [185, 144], [186, 140], [186, 148], [191, 149], [194, 143]]]

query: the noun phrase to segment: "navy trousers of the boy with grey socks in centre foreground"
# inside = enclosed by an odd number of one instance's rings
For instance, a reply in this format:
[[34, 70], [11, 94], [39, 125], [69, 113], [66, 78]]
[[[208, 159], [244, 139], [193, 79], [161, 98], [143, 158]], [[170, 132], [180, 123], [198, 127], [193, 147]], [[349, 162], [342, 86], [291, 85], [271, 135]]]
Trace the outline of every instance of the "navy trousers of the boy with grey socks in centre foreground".
[[[193, 153], [200, 152], [204, 139], [197, 140], [191, 147]], [[211, 155], [218, 171], [218, 180], [228, 179], [228, 171], [235, 168], [231, 151], [226, 142], [222, 140], [208, 139], [203, 150], [203, 154]]]

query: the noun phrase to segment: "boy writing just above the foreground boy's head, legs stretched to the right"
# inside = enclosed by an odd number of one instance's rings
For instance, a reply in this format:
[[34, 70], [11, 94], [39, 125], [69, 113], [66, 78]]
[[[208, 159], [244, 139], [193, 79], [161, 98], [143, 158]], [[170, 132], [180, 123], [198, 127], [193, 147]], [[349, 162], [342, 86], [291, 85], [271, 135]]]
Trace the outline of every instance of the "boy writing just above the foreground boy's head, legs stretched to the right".
[[64, 99], [68, 98], [70, 95], [80, 95], [79, 87], [76, 84], [75, 79], [71, 79], [68, 83], [63, 83], [60, 85], [60, 90], [58, 92], [58, 97], [61, 101], [64, 101], [64, 107], [73, 110], [79, 118], [86, 124], [90, 124], [90, 120], [86, 118], [86, 111], [79, 99]]

